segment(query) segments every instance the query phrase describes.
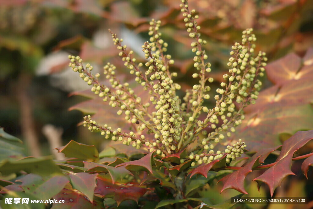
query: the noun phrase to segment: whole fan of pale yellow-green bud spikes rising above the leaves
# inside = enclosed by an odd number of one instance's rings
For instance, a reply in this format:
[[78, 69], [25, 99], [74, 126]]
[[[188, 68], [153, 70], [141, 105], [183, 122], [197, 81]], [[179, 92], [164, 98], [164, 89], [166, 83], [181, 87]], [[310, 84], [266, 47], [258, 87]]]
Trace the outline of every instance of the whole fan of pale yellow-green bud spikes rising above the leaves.
[[[107, 63], [104, 66], [105, 78], [110, 82], [108, 87], [99, 82], [100, 74], [91, 74], [93, 67], [90, 64], [84, 68], [79, 56], [70, 55], [69, 66], [91, 86], [91, 91], [99, 95], [104, 102], [108, 102], [111, 107], [119, 107], [117, 115], [125, 114], [126, 121], [132, 123], [131, 131], [125, 133], [121, 128], [114, 130], [107, 124], [99, 125], [87, 116], [84, 117], [84, 126], [90, 131], [99, 131], [105, 138], [121, 141], [136, 149], [156, 151], [156, 154], [162, 157], [178, 153], [187, 148], [190, 143], [198, 141], [198, 146], [188, 149], [189, 159], [193, 160], [192, 166], [210, 163], [225, 155], [226, 162], [230, 163], [244, 152], [246, 145], [241, 139], [233, 146], [228, 146], [223, 153], [214, 152], [213, 149], [217, 143], [235, 132], [235, 127], [244, 120], [243, 108], [250, 103], [253, 104], [258, 98], [262, 85], [258, 76], [264, 75], [267, 58], [263, 52], [254, 55], [253, 42], [256, 37], [252, 29], [245, 30], [242, 44], [235, 43], [232, 46], [231, 57], [227, 63], [229, 73], [223, 76], [224, 82], [216, 90], [215, 105], [210, 108], [203, 106], [204, 99], [210, 99], [208, 91], [211, 88], [207, 83], [213, 82], [213, 78], [208, 76], [211, 72], [211, 64], [205, 61], [208, 56], [202, 46], [206, 41], [200, 38], [198, 32], [200, 29], [196, 21], [198, 15], [195, 14], [195, 10], [189, 10], [187, 0], [181, 2], [187, 31], [195, 40], [191, 47], [192, 52], [195, 53], [193, 60], [197, 73], [192, 77], [199, 79], [199, 84], [186, 91], [182, 103], [176, 94], [181, 86], [172, 79], [177, 76], [177, 73], [169, 72], [169, 65], [174, 64], [174, 60], [171, 55], [164, 54], [167, 52], [167, 43], [161, 39], [162, 34], [159, 32], [161, 21], [152, 19], [149, 27], [150, 42], [147, 41], [141, 46], [146, 58], [145, 64], [136, 64], [136, 59], [131, 57], [133, 51], [127, 52], [127, 46], [121, 44], [123, 40], [110, 31], [113, 43], [120, 50], [119, 55], [124, 65], [131, 74], [135, 74], [135, 81], [144, 90], [148, 90], [151, 95], [150, 102], [143, 104], [141, 97], [136, 96], [128, 83], [121, 83], [118, 80], [116, 67], [113, 64]], [[140, 67], [146, 67], [146, 71], [141, 71]], [[238, 110], [234, 101], [239, 103]], [[155, 111], [148, 112], [151, 104], [154, 105]], [[207, 114], [204, 120], [198, 119], [201, 112]], [[205, 128], [211, 128], [213, 131], [208, 133]], [[207, 137], [200, 138], [199, 133]]]

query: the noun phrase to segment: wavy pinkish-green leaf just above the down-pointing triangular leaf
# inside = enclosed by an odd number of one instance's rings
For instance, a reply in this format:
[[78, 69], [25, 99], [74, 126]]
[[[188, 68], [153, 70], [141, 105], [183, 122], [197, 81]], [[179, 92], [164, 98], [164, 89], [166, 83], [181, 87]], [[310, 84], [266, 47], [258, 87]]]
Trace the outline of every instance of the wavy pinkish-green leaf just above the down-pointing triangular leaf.
[[96, 173], [109, 173], [112, 179], [112, 183], [114, 184], [116, 180], [121, 180], [126, 175], [132, 175], [132, 173], [127, 170], [125, 167], [118, 167], [115, 168], [113, 166], [109, 165], [103, 165], [93, 162], [84, 162], [85, 168], [88, 169], [88, 171], [94, 171]]

